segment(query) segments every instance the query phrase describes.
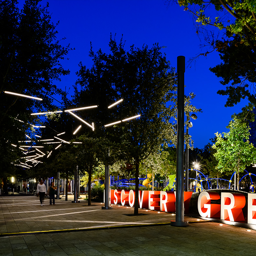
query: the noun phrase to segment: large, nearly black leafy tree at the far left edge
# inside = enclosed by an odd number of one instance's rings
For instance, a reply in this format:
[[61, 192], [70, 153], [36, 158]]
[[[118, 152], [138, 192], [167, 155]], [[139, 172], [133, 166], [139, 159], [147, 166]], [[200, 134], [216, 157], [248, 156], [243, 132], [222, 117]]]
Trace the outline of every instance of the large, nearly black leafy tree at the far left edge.
[[[52, 95], [62, 93], [54, 84], [63, 69], [61, 59], [71, 49], [57, 40], [56, 25], [50, 21], [48, 6], [39, 1], [25, 1], [19, 10], [18, 2], [0, 1], [0, 173], [6, 176], [11, 163], [19, 158], [20, 145], [31, 125], [40, 123], [30, 113], [35, 109], [54, 109]], [[36, 101], [3, 93], [11, 91], [42, 98]], [[14, 151], [13, 151], [14, 149]], [[8, 170], [8, 171], [7, 171]]]

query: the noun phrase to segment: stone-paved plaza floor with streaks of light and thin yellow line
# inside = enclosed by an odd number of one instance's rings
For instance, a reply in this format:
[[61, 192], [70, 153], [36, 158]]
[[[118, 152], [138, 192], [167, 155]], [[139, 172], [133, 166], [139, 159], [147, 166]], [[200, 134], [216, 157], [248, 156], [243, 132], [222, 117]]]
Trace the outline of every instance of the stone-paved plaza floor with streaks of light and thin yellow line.
[[72, 203], [70, 195], [40, 206], [34, 195], [0, 196], [0, 255], [172, 256], [256, 255], [256, 231], [185, 216], [173, 227], [171, 213], [131, 207]]

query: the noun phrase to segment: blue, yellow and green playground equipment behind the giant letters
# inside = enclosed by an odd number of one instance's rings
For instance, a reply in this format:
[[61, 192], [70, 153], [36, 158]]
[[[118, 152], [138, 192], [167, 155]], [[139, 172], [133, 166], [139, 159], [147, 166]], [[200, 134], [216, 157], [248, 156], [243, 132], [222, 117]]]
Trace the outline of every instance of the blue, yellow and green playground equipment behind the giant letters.
[[[189, 180], [192, 180], [194, 183], [194, 187], [192, 188], [193, 192], [198, 192], [198, 191], [203, 191], [207, 189], [212, 189], [213, 188], [213, 181], [216, 180], [217, 183], [217, 189], [219, 189], [219, 181], [220, 182], [228, 182], [228, 189], [231, 189], [231, 184], [232, 184], [232, 179], [235, 176], [235, 172], [231, 175], [230, 180], [227, 179], [222, 179], [222, 178], [208, 178], [208, 176], [204, 175], [201, 171], [197, 169], [189, 169], [189, 171], [195, 171], [196, 172], [196, 177], [195, 178], [189, 178]], [[252, 175], [256, 176], [253, 173], [248, 173], [247, 170], [245, 170], [246, 174], [243, 175], [243, 177], [239, 180], [239, 183], [241, 183], [242, 179], [245, 178], [246, 176], [250, 177], [250, 188], [251, 192], [254, 193], [254, 184], [252, 182]], [[166, 183], [166, 187], [163, 189], [163, 191], [173, 191], [176, 188], [176, 175], [169, 175], [169, 182]], [[235, 178], [234, 178], [235, 179]], [[117, 187], [130, 187], [130, 186], [135, 186], [135, 183], [133, 182], [135, 178], [131, 179], [119, 179], [119, 176], [117, 176], [117, 180], [115, 180], [115, 176], [110, 177], [110, 186], [117, 186]], [[139, 178], [140, 181], [142, 181], [142, 184], [139, 184], [140, 187], [150, 187], [152, 188], [152, 185], [150, 184], [152, 182], [152, 174], [147, 174], [146, 179], [145, 178]], [[235, 183], [235, 182], [234, 182]], [[236, 186], [237, 187], [237, 186]], [[239, 185], [238, 185], [239, 187]], [[234, 188], [235, 189], [235, 188]]]

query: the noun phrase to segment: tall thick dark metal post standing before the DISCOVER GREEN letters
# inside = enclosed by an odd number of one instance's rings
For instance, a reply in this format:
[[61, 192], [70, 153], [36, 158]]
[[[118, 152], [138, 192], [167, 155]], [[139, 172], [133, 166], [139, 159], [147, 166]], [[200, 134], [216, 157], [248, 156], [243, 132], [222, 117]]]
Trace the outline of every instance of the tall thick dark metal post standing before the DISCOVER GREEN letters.
[[176, 165], [176, 216], [172, 226], [188, 226], [184, 222], [184, 73], [185, 57], [177, 57], [177, 165]]

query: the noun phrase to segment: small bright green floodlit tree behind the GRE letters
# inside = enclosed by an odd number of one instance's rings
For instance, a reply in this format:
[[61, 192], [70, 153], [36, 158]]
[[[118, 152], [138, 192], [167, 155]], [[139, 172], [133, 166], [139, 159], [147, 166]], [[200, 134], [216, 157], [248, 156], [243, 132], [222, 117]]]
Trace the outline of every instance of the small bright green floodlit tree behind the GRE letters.
[[[256, 149], [249, 142], [250, 127], [236, 116], [228, 125], [230, 131], [222, 134], [216, 133], [216, 143], [212, 148], [218, 161], [216, 169], [221, 173], [237, 173], [237, 186], [239, 188], [239, 174], [246, 166], [256, 163]], [[223, 135], [223, 136], [222, 136]]]

